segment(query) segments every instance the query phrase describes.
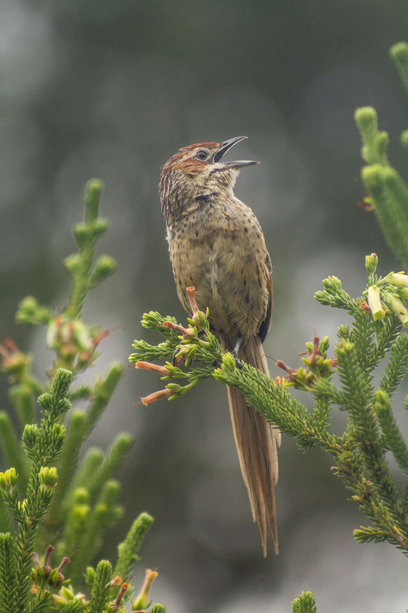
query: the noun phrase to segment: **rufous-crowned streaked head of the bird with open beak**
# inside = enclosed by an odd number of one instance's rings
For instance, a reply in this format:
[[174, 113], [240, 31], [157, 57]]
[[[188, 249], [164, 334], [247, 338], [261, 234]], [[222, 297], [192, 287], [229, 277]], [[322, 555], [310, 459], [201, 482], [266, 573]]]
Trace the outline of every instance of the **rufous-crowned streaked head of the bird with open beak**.
[[246, 139], [238, 136], [223, 143], [195, 143], [182, 147], [163, 166], [159, 194], [166, 223], [198, 196], [226, 192], [232, 194], [240, 168], [259, 162], [238, 160], [222, 162], [232, 145]]

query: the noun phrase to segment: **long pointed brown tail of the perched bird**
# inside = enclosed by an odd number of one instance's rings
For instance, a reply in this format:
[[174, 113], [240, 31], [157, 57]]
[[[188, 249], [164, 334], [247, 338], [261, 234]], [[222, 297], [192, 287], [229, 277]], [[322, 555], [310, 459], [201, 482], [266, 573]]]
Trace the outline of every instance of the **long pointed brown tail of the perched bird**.
[[[221, 346], [223, 345], [221, 341]], [[240, 348], [239, 357], [269, 376], [265, 354], [258, 337]], [[232, 428], [243, 481], [247, 485], [250, 498], [252, 517], [254, 522], [258, 522], [264, 555], [267, 553], [266, 520], [272, 533], [275, 554], [278, 554], [274, 485], [278, 482], [277, 447], [281, 444], [281, 434], [278, 428], [267, 424], [254, 408], [247, 405], [238, 390], [229, 386], [227, 389]]]

